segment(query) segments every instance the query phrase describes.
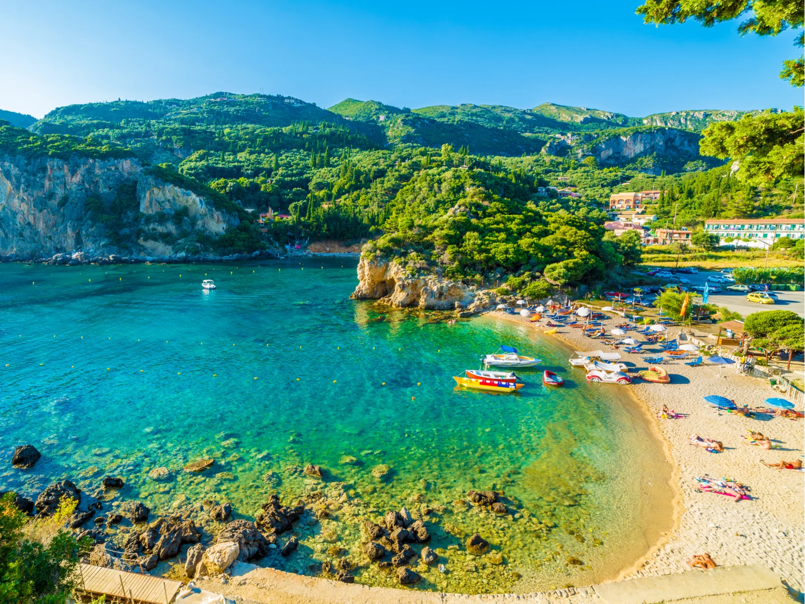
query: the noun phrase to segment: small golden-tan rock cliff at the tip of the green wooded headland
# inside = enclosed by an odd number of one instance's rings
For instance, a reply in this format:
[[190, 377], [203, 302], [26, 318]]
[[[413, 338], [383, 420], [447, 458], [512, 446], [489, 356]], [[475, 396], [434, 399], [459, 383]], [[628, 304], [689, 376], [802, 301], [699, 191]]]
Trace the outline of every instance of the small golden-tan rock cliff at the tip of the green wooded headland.
[[361, 257], [357, 265], [355, 300], [378, 300], [398, 308], [464, 310], [487, 308], [489, 292], [436, 275], [411, 276], [398, 263]]

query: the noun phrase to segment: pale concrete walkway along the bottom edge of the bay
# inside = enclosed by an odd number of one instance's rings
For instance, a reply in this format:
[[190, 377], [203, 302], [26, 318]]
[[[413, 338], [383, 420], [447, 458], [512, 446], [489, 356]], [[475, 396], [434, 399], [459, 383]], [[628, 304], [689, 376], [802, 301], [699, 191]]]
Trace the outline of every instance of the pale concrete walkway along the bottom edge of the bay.
[[225, 594], [238, 604], [791, 604], [779, 577], [762, 565], [642, 577], [586, 588], [539, 594], [442, 594], [410, 589], [348, 585], [236, 563], [226, 583], [195, 581], [202, 590]]

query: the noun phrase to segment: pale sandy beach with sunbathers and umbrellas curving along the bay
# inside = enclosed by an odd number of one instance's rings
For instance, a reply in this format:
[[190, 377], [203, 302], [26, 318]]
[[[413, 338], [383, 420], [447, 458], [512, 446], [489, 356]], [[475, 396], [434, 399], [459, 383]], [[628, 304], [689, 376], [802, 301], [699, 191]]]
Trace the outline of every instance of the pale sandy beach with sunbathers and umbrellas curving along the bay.
[[[522, 322], [539, 333], [544, 329], [520, 316], [502, 312], [488, 316]], [[620, 316], [615, 316], [604, 322], [605, 329], [609, 331], [622, 321]], [[680, 329], [668, 328], [669, 339]], [[585, 337], [580, 329], [559, 328], [558, 333], [544, 337], [562, 338], [576, 350], [613, 350], [601, 341]], [[637, 339], [642, 340], [639, 336]], [[630, 368], [646, 368], [646, 362], [638, 354], [617, 352], [622, 356], [621, 362]], [[666, 361], [663, 367], [671, 375], [671, 383], [635, 379], [626, 387], [601, 384], [602, 388], [630, 388], [655, 418], [663, 404], [686, 416], [678, 420], [654, 420], [668, 441], [672, 457], [669, 461], [675, 464], [675, 475], [679, 478], [681, 498], [677, 503], [675, 529], [621, 578], [681, 573], [690, 569], [686, 561], [691, 555], [708, 552], [720, 566], [765, 565], [792, 588], [803, 591], [805, 476], [800, 471], [773, 470], [761, 463], [761, 460], [776, 463], [801, 459], [802, 420], [765, 414], [750, 419], [716, 411], [705, 403], [704, 395], [723, 395], [738, 404], [759, 407], [766, 398], [774, 396], [768, 383], [738, 374], [731, 366], [716, 366], [705, 361], [702, 366], [690, 367], [684, 361]], [[581, 374], [584, 370], [568, 364], [568, 371]], [[743, 436], [749, 429], [770, 436], [780, 448], [763, 450], [747, 445]], [[725, 451], [708, 453], [689, 445], [689, 437], [694, 433], [723, 442]], [[711, 478], [735, 478], [751, 488], [752, 499], [736, 502], [732, 497], [697, 492], [695, 478], [704, 474]]]

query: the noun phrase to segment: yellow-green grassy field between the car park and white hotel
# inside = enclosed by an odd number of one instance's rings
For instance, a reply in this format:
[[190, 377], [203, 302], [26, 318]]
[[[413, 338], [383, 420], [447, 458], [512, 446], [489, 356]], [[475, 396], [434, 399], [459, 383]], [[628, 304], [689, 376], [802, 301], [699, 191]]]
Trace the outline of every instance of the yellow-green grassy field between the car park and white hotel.
[[[677, 266], [676, 252], [660, 251], [656, 247], [646, 248], [646, 251], [643, 252], [642, 264], [651, 267], [675, 267]], [[765, 265], [766, 252], [762, 250], [712, 252], [687, 250], [679, 254], [680, 267], [696, 267], [703, 271], [738, 267], [762, 268]], [[802, 265], [803, 260], [792, 254], [782, 251], [769, 252], [769, 267], [801, 267]]]

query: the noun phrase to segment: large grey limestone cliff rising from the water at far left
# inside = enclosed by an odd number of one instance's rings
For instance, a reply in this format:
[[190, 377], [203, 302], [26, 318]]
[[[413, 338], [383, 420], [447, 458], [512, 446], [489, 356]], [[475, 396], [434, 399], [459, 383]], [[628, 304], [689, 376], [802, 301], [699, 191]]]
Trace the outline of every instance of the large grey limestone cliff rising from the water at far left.
[[198, 254], [240, 222], [148, 172], [131, 158], [0, 155], [0, 255]]

